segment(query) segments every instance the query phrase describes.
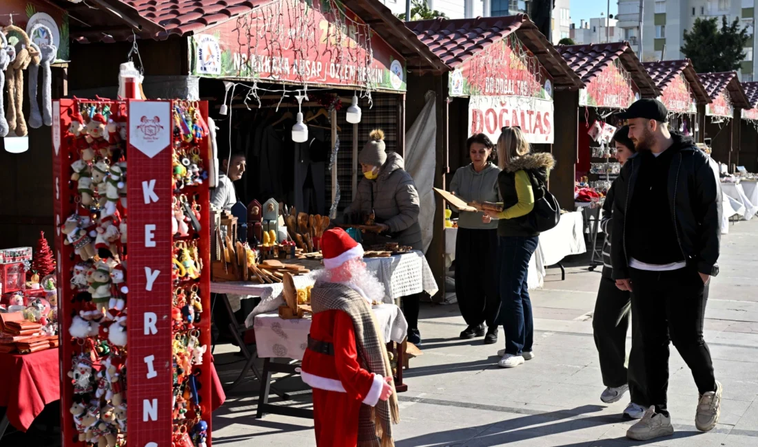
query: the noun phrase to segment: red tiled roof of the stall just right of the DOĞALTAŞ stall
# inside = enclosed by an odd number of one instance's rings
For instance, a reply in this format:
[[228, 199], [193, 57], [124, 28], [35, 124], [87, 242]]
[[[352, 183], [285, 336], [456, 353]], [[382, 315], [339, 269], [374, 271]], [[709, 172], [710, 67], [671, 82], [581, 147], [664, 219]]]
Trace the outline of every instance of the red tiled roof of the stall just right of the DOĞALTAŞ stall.
[[591, 45], [558, 45], [557, 50], [585, 84], [593, 79], [605, 67], [620, 59], [622, 66], [629, 72], [631, 79], [640, 89], [642, 98], [657, 98], [660, 90], [642, 66], [629, 42], [612, 42]]

